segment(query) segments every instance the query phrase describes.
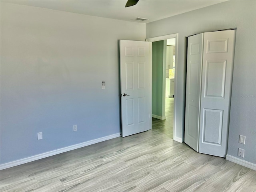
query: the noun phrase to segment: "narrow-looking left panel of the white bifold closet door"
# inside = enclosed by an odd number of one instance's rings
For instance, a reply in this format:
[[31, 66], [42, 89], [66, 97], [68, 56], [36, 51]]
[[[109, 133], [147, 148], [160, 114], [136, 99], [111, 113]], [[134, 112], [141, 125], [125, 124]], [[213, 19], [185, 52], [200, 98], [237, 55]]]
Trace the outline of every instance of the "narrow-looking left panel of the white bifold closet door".
[[188, 38], [184, 142], [198, 152], [203, 33]]

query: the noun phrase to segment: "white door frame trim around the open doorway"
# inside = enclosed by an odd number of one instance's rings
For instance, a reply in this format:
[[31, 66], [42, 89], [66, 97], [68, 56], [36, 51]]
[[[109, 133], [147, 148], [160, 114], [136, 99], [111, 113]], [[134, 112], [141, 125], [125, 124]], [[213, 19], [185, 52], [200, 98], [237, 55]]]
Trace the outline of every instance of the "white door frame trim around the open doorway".
[[[155, 41], [161, 41], [161, 40], [166, 40], [166, 39], [172, 39], [175, 38], [175, 68], [178, 68], [177, 65], [177, 61], [178, 61], [178, 33], [175, 34], [169, 34], [169, 35], [164, 35], [164, 36], [158, 36], [158, 37], [152, 37], [152, 38], [147, 38], [146, 41], [151, 42], [150, 45], [152, 47], [152, 42]], [[152, 50], [152, 49], [151, 49]], [[151, 62], [152, 62], [152, 51], [150, 52], [150, 57], [151, 57]], [[174, 79], [176, 79], [176, 81], [174, 81], [174, 93], [177, 93], [177, 70], [175, 69], [175, 73], [174, 73]], [[151, 78], [152, 78], [152, 74], [150, 74]], [[165, 85], [165, 81], [164, 81], [164, 85]], [[151, 84], [151, 89], [152, 89], [152, 84]], [[163, 90], [165, 92], [165, 89]], [[165, 96], [165, 94], [164, 94]], [[173, 140], [178, 141], [178, 142], [182, 142], [182, 140], [177, 139], [176, 137], [176, 96], [174, 97], [174, 113], [173, 113]], [[163, 104], [165, 104], [165, 102], [163, 102]], [[164, 106], [165, 107], [165, 106]], [[152, 107], [151, 107], [152, 108]]]

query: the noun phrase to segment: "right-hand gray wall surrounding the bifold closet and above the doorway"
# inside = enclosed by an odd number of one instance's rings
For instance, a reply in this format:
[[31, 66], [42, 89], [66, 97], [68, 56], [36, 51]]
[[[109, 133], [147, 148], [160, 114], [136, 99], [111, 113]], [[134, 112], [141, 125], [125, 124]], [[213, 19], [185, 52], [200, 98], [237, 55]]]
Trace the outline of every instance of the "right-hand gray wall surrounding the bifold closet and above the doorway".
[[[184, 135], [185, 36], [237, 28], [228, 154], [256, 164], [256, 1], [227, 1], [146, 24], [146, 37], [178, 33], [176, 136]], [[239, 144], [239, 134], [246, 136]]]

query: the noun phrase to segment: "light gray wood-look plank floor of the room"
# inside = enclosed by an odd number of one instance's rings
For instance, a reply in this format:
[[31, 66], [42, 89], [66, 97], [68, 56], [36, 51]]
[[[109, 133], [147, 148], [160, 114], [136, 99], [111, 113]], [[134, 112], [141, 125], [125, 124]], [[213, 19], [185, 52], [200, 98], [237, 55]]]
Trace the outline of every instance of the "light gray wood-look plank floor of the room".
[[256, 192], [256, 171], [199, 154], [152, 124], [140, 134], [1, 170], [0, 191]]

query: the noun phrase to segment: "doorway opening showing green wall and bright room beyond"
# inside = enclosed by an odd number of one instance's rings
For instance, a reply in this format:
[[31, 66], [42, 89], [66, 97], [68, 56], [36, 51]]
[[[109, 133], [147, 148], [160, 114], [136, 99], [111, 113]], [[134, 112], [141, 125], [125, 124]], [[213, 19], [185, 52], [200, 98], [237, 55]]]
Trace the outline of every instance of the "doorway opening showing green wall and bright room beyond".
[[169, 138], [175, 138], [178, 34], [146, 41], [152, 42], [152, 128], [160, 130]]

